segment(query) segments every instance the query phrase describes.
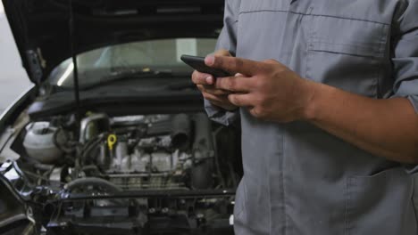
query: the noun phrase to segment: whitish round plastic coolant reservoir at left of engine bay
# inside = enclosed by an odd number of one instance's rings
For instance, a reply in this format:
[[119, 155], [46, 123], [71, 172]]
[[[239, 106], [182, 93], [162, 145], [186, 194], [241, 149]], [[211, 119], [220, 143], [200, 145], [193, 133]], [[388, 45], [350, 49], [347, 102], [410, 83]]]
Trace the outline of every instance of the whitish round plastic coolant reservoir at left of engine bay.
[[48, 122], [35, 122], [26, 126], [26, 131], [23, 146], [30, 158], [49, 164], [63, 156], [63, 152], [54, 144], [56, 127]]

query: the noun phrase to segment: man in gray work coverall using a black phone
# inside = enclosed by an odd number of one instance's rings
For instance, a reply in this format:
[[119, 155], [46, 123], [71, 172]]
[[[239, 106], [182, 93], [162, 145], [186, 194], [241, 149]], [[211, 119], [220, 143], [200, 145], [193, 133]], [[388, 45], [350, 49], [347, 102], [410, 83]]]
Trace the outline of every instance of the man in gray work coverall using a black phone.
[[417, 234], [418, 2], [226, 0], [195, 71], [210, 118], [240, 119], [237, 234]]

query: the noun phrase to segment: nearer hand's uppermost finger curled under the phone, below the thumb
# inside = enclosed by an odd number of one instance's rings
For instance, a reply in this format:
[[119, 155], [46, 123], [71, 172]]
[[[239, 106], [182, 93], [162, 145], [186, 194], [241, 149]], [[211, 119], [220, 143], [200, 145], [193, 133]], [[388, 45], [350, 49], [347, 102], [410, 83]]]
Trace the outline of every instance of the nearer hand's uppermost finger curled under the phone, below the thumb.
[[247, 93], [254, 87], [253, 83], [251, 77], [220, 77], [216, 79], [214, 87], [233, 93]]

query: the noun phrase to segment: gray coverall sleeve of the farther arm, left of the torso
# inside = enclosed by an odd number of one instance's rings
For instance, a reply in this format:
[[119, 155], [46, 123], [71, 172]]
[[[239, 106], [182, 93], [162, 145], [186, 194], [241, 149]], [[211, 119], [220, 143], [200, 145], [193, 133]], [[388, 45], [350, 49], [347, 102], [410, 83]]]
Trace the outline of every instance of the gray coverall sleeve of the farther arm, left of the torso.
[[[216, 44], [216, 50], [225, 49], [235, 56], [237, 52], [237, 23], [240, 0], [226, 0], [223, 18], [223, 28]], [[224, 126], [230, 126], [238, 117], [238, 109], [227, 111], [213, 106], [205, 100], [205, 110], [209, 118]]]

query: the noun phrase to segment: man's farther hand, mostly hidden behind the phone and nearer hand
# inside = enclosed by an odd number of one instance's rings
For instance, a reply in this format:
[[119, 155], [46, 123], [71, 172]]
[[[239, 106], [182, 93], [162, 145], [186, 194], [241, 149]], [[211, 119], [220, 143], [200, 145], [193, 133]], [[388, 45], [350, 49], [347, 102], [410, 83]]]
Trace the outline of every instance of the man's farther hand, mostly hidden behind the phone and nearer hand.
[[[228, 56], [230, 57], [230, 52], [226, 50], [219, 50], [214, 53], [215, 56]], [[217, 89], [214, 87], [216, 77], [213, 77], [210, 74], [201, 73], [194, 71], [192, 75], [192, 81], [197, 85], [197, 88], [202, 92], [204, 98], [210, 101], [214, 106], [220, 107], [226, 110], [237, 109], [237, 106], [233, 105], [228, 100], [228, 95], [230, 92]]]

